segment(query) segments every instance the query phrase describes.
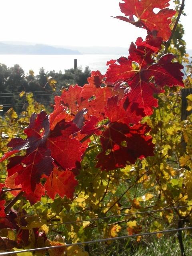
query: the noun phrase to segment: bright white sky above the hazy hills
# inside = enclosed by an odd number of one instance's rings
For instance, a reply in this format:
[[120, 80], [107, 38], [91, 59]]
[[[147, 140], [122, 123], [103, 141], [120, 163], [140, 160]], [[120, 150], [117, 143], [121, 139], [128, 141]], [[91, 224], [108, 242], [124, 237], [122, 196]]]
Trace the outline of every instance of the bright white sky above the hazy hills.
[[[123, 15], [118, 0], [1, 0], [0, 41], [54, 46], [129, 47], [146, 32], [110, 16]], [[187, 48], [192, 49], [192, 0], [185, 0]]]

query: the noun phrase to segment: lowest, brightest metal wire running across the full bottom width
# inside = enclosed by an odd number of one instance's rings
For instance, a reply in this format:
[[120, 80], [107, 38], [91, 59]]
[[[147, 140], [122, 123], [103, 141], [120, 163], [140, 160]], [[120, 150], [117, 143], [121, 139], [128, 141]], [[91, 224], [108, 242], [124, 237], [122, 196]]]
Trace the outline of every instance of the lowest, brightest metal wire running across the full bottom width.
[[192, 227], [175, 228], [175, 229], [155, 231], [155, 232], [146, 232], [146, 233], [140, 233], [140, 234], [134, 234], [134, 235], [128, 235], [128, 236], [118, 236], [118, 237], [112, 237], [112, 238], [104, 238], [104, 239], [98, 239], [98, 240], [92, 240], [92, 241], [86, 241], [86, 242], [79, 242], [79, 243], [75, 243], [75, 244], [47, 246], [47, 247], [21, 250], [21, 251], [14, 251], [14, 252], [0, 252], [0, 255], [10, 255], [10, 254], [17, 254], [17, 253], [22, 253], [22, 252], [34, 252], [34, 251], [48, 250], [48, 249], [54, 249], [54, 248], [62, 248], [62, 247], [82, 245], [82, 244], [94, 244], [94, 243], [100, 243], [100, 242], [106, 242], [106, 241], [113, 241], [113, 240], [131, 238], [131, 237], [135, 237], [135, 236], [148, 236], [148, 235], [155, 235], [155, 234], [162, 234], [162, 233], [175, 232], [175, 231], [180, 231], [180, 230], [190, 230], [190, 229], [192, 229]]

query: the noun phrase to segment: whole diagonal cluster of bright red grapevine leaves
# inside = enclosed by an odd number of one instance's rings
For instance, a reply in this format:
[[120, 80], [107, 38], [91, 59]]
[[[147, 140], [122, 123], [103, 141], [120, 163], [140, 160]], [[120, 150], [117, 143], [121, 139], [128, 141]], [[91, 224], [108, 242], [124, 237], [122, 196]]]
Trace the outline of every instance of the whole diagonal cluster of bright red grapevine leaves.
[[[162, 40], [170, 36], [170, 18], [175, 11], [164, 8], [168, 2], [120, 3], [121, 11], [129, 18], [116, 18], [146, 29], [146, 40], [138, 38], [132, 43], [127, 58], [110, 60], [105, 75], [93, 71], [88, 84], [70, 86], [56, 96], [50, 115], [44, 111], [32, 114], [24, 129], [26, 139], [12, 139], [8, 144], [12, 150], [1, 159], [10, 160], [7, 187], [21, 188], [31, 203], [45, 193], [52, 199], [56, 194], [72, 199], [78, 183], [75, 176], [93, 134], [100, 136], [102, 152], [97, 156], [97, 167], [102, 170], [153, 156], [152, 137], [146, 135], [150, 127], [140, 121], [158, 107], [154, 94], [164, 92], [164, 86], [184, 86], [180, 71], [183, 66], [172, 62], [172, 54], [162, 56], [158, 62], [154, 59]], [[154, 8], [161, 10], [155, 14]], [[21, 155], [10, 157], [16, 153]], [[46, 179], [44, 184], [42, 178]]]

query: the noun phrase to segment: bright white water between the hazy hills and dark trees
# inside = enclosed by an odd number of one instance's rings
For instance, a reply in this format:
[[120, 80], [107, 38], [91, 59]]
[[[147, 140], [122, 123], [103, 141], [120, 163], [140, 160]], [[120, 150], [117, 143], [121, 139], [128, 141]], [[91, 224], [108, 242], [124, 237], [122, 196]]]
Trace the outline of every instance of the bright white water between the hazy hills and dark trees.
[[40, 68], [55, 72], [64, 73], [66, 69], [74, 67], [74, 59], [77, 59], [78, 67], [85, 69], [86, 66], [91, 71], [99, 70], [105, 74], [108, 66], [106, 62], [116, 60], [121, 55], [117, 54], [81, 54], [81, 55], [0, 55], [0, 63], [6, 64], [9, 68], [14, 64], [18, 64], [28, 74], [29, 70], [33, 70], [35, 75], [39, 73]]

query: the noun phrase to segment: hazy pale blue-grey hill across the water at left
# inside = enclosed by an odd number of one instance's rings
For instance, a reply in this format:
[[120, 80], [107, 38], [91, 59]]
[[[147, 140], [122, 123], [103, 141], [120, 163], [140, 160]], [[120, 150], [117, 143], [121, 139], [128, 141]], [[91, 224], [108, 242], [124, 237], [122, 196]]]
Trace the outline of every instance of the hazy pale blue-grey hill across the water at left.
[[57, 48], [45, 44], [18, 45], [0, 42], [0, 54], [80, 54], [78, 50]]

